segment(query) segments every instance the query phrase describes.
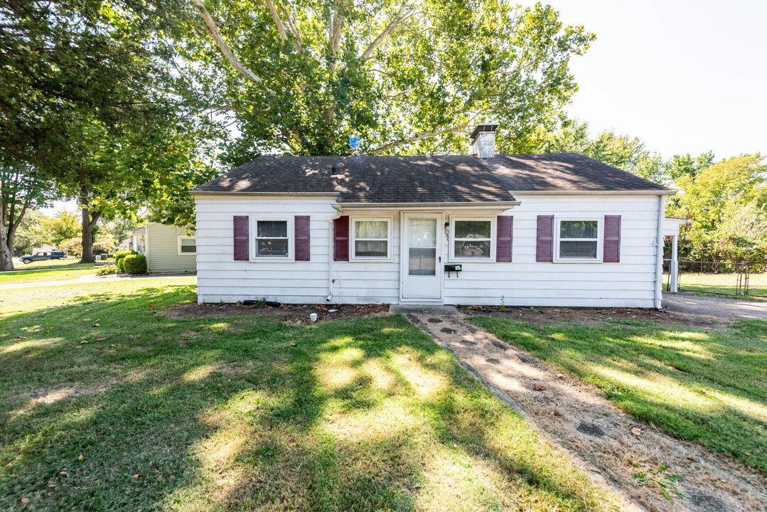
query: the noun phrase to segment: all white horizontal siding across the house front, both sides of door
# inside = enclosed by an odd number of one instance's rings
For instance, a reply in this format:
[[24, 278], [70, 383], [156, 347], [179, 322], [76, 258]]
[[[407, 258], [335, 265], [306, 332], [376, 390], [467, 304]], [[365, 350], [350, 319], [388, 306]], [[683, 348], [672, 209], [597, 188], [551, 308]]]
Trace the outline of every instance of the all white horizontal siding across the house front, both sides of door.
[[[512, 263], [462, 262], [458, 277], [444, 274], [446, 304], [653, 307], [657, 196], [516, 198], [522, 202], [520, 206], [494, 213], [514, 216]], [[329, 230], [331, 220], [338, 215], [332, 203], [329, 197], [197, 197], [199, 302], [266, 297], [286, 303], [327, 304], [328, 259], [333, 256]], [[247, 215], [252, 221], [262, 213], [309, 215], [311, 261], [234, 261], [232, 216]], [[451, 215], [472, 216], [466, 210], [443, 213], [446, 222]], [[552, 214], [570, 218], [574, 214], [620, 215], [621, 263], [537, 263], [537, 216]], [[351, 214], [359, 215], [357, 211]], [[390, 261], [332, 263], [331, 303], [399, 302], [400, 222], [400, 213], [395, 213]], [[443, 254], [447, 255], [446, 238], [445, 244]], [[445, 257], [442, 263], [449, 261]]]

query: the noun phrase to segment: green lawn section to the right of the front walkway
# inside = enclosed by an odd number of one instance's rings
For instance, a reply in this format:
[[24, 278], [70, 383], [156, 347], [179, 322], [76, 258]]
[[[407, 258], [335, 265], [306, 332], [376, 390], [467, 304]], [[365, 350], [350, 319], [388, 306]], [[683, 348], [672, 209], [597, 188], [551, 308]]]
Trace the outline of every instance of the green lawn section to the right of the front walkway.
[[469, 321], [591, 382], [640, 420], [767, 470], [767, 322], [700, 332], [638, 322]]

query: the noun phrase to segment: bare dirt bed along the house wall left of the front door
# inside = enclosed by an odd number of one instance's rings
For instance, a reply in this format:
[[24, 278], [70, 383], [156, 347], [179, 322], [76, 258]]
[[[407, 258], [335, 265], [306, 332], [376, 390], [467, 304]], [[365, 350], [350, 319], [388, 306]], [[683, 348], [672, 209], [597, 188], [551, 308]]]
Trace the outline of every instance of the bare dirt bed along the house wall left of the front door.
[[[158, 315], [169, 319], [206, 319], [254, 315], [272, 317], [291, 325], [363, 319], [388, 315], [388, 304], [341, 304], [337, 306], [283, 304], [281, 306], [245, 306], [244, 304], [182, 304], [164, 309]], [[317, 322], [309, 315], [317, 313]]]

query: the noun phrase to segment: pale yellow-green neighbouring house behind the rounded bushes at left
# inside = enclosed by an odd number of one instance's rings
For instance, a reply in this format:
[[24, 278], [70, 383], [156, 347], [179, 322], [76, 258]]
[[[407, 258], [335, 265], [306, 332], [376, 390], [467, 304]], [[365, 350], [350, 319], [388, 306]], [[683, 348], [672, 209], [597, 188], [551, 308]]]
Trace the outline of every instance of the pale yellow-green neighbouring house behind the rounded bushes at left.
[[196, 270], [196, 237], [186, 228], [148, 223], [133, 230], [130, 249], [146, 256], [146, 269], [150, 273]]

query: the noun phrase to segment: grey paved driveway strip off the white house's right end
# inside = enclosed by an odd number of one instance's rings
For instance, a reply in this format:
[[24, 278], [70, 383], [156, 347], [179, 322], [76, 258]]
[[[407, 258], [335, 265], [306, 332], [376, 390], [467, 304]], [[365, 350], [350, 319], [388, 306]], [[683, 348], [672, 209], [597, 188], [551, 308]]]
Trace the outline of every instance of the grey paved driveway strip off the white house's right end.
[[767, 320], [767, 301], [758, 300], [664, 293], [663, 309], [676, 315], [706, 316], [719, 320]]

